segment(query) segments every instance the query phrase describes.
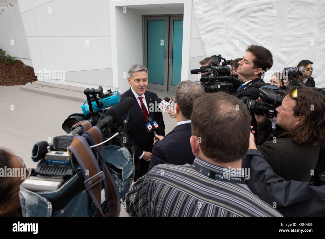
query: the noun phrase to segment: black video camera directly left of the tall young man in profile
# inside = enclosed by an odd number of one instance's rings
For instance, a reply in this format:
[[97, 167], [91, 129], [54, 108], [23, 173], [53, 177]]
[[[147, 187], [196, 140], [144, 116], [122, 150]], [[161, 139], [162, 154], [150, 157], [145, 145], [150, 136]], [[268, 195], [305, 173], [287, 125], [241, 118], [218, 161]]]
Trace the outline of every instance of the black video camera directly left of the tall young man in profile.
[[[211, 57], [211, 65], [203, 66], [200, 69], [193, 69], [191, 74], [202, 73], [200, 84], [205, 92], [223, 91], [230, 94], [236, 92], [243, 80], [238, 79], [238, 74], [230, 74], [232, 72], [232, 60], [226, 60], [221, 55]], [[221, 65], [219, 65], [220, 62]]]

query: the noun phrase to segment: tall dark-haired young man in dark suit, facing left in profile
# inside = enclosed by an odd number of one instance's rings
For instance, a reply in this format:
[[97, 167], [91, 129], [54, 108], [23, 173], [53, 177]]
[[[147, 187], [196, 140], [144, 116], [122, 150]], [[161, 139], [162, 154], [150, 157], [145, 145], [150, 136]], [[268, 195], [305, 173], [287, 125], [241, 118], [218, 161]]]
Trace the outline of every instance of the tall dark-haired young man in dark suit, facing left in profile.
[[[256, 82], [264, 82], [261, 76], [268, 71], [273, 65], [272, 53], [263, 46], [250, 45], [246, 49], [243, 59], [238, 62], [237, 72], [241, 74], [243, 84], [239, 87], [235, 96], [240, 100], [246, 96], [250, 100], [257, 100], [258, 88], [254, 87]], [[252, 126], [256, 131], [256, 119], [252, 113]]]

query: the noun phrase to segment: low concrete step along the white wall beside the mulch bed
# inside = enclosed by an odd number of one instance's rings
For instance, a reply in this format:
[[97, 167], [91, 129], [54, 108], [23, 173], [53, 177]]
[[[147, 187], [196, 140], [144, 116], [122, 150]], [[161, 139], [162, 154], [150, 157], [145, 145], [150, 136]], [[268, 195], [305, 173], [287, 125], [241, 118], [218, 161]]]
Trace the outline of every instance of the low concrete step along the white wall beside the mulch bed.
[[86, 96], [84, 94], [85, 88], [77, 86], [67, 86], [60, 84], [51, 84], [44, 81], [35, 81], [32, 82], [32, 84], [30, 85], [20, 86], [19, 89], [35, 94], [51, 96], [64, 100], [73, 100], [78, 102], [84, 102], [86, 100]]

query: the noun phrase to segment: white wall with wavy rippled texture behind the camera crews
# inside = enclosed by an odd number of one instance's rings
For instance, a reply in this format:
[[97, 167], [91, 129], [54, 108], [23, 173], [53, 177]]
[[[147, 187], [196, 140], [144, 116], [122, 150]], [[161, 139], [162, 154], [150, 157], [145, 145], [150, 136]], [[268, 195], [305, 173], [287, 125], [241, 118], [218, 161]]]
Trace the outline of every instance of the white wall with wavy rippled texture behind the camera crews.
[[248, 45], [264, 46], [273, 55], [272, 71], [311, 60], [316, 86], [325, 87], [325, 1], [193, 0], [193, 5], [208, 56], [235, 59]]

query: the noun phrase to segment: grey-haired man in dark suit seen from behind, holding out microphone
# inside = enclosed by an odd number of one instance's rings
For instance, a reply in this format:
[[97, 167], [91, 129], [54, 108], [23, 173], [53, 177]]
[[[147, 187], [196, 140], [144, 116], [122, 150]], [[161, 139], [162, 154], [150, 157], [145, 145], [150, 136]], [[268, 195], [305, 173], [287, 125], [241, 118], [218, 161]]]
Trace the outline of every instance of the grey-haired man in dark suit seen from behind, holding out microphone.
[[203, 87], [195, 81], [181, 81], [176, 89], [174, 112], [176, 127], [152, 149], [149, 171], [158, 164], [191, 164], [195, 156], [189, 139], [192, 136], [191, 115], [195, 99], [205, 95]]

